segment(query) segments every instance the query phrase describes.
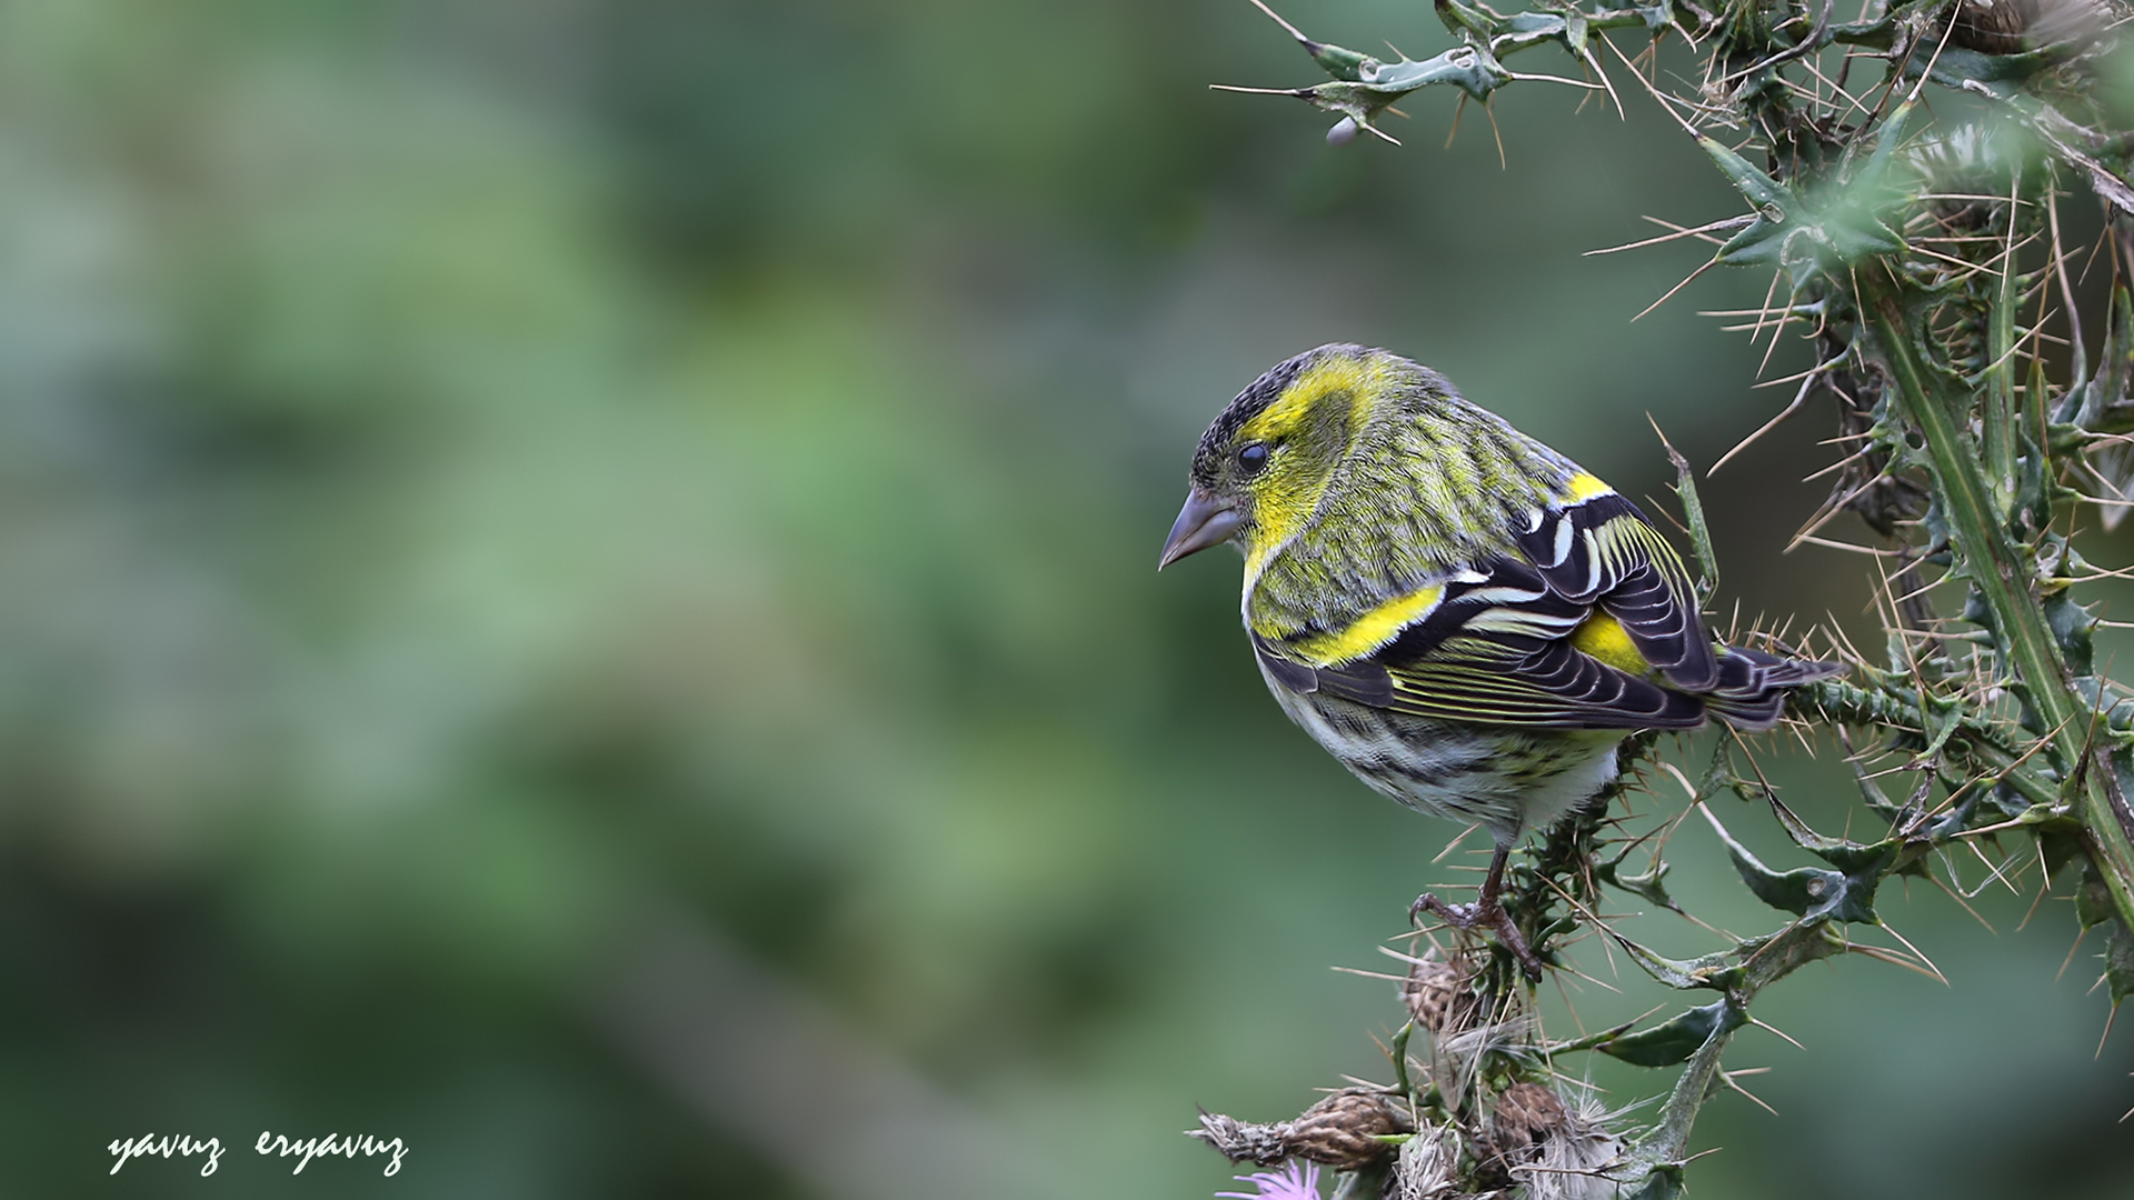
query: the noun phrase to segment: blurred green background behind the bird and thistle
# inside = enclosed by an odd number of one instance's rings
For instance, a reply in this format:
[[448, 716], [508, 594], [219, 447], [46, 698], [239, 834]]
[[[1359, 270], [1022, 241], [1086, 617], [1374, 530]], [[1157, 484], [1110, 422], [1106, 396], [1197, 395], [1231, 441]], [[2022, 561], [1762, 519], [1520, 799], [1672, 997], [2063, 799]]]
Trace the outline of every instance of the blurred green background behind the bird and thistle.
[[[1283, 722], [1233, 559], [1154, 574], [1199, 429], [1357, 340], [1665, 495], [1647, 412], [1709, 463], [1790, 395], [1694, 316], [1765, 280], [1633, 325], [1701, 254], [1579, 256], [1737, 209], [1650, 102], [1329, 149], [1206, 90], [1312, 79], [1242, 0], [23, 2], [0, 60], [9, 1196], [1208, 1196], [1195, 1104], [1381, 1074], [1327, 967], [1458, 875]], [[1867, 621], [1780, 557], [1825, 423], [1707, 485], [1726, 606]], [[1743, 1036], [1778, 1115], [1714, 1102], [1697, 1194], [2134, 1191], [2134, 1036], [2029, 899], [1886, 897], [1953, 986], [1773, 989], [1807, 1051]], [[1551, 1029], [1671, 999], [1618, 986]], [[107, 1177], [139, 1134], [233, 1149]]]

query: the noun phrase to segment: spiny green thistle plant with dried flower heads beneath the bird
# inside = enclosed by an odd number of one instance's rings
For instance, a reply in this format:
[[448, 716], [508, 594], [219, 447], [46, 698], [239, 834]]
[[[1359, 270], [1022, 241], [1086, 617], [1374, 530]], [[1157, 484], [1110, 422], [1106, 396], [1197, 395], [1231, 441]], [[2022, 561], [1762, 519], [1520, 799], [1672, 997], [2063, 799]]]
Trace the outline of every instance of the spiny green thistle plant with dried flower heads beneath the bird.
[[[1846, 660], [1850, 675], [1801, 688], [1790, 724], [1846, 749], [1872, 816], [1852, 824], [1884, 833], [1818, 833], [1731, 732], [1699, 771], [1662, 764], [1658, 739], [1635, 737], [1609, 803], [1519, 854], [1504, 907], [1536, 950], [1603, 937], [1665, 989], [1692, 993], [1679, 1012], [1549, 1040], [1502, 948], [1423, 933], [1394, 950], [1408, 1019], [1387, 1046], [1387, 1083], [1344, 1087], [1272, 1125], [1208, 1115], [1195, 1136], [1259, 1166], [1325, 1164], [1349, 1198], [1675, 1196], [1699, 1108], [1739, 1087], [1720, 1061], [1765, 986], [1835, 954], [1938, 974], [1901, 937], [1906, 950], [1857, 933], [1886, 931], [1876, 893], [1891, 875], [1942, 884], [1944, 850], [1976, 852], [1997, 875], [2038, 869], [2040, 890], [2072, 884], [2081, 929], [2104, 927], [2100, 982], [2117, 1010], [2134, 991], [2134, 694], [2093, 662], [2100, 621], [2083, 585], [2125, 572], [2091, 566], [2074, 536], [2134, 508], [2134, 128], [2102, 100], [2134, 6], [1867, 0], [1842, 21], [1833, 0], [1560, 0], [1509, 15], [1436, 0], [1460, 45], [1387, 60], [1315, 41], [1253, 2], [1327, 79], [1238, 90], [1332, 113], [1334, 143], [1394, 141], [1379, 117], [1428, 88], [1449, 88], [1464, 109], [1513, 83], [1571, 83], [1618, 113], [1635, 88], [1739, 192], [1741, 211], [1628, 248], [1714, 246], [1684, 284], [1711, 267], [1769, 273], [1765, 303], [1743, 314], [1752, 340], [1769, 333], [1775, 346], [1797, 331], [1816, 350], [1788, 380], [1790, 401], [1743, 446], [1816, 399], [1835, 408], [1833, 489], [1797, 542], [1831, 542], [1840, 515], [1859, 517], [1876, 544], [1844, 544], [1880, 572], [1884, 638], [1865, 653], [1835, 628], [1812, 634], [1829, 643], [1814, 653]], [[1539, 47], [1568, 56], [1579, 77], [1507, 66]], [[1662, 53], [1688, 70], [1665, 73]], [[2081, 203], [2102, 214], [2093, 248], [2061, 239], [2061, 209]], [[2085, 269], [2108, 278], [2089, 312]], [[1697, 478], [1673, 459], [1709, 598], [1718, 564]], [[1662, 771], [1692, 794], [1690, 820], [1711, 824], [1748, 890], [1784, 914], [1773, 931], [1669, 959], [1598, 916], [1607, 890], [1682, 912], [1652, 833], [1626, 833], [1611, 811]], [[1705, 807], [1722, 794], [1767, 807], [1812, 865], [1758, 860]], [[1605, 1112], [1560, 1083], [1577, 1053], [1679, 1074], [1658, 1106]]]

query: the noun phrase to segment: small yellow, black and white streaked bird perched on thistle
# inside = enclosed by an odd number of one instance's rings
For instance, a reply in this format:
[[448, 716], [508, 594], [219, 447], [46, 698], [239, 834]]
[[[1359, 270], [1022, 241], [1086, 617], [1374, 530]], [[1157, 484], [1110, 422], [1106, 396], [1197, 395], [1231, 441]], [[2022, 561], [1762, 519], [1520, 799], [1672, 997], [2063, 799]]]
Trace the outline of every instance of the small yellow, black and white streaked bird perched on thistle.
[[1490, 927], [1504, 856], [1615, 777], [1633, 730], [1778, 724], [1831, 662], [1711, 641], [1688, 570], [1635, 504], [1387, 350], [1321, 346], [1259, 376], [1193, 453], [1157, 570], [1244, 551], [1244, 630], [1268, 690], [1342, 767], [1432, 816], [1481, 822]]

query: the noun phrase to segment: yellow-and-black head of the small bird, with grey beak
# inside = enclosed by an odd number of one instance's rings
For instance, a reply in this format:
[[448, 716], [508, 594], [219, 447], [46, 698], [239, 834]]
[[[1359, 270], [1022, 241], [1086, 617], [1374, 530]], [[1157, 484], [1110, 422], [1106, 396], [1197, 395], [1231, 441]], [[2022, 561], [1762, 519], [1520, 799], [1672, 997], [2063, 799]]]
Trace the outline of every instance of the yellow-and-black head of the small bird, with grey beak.
[[1413, 363], [1364, 346], [1321, 346], [1238, 393], [1193, 453], [1191, 491], [1157, 570], [1223, 542], [1253, 557], [1319, 508], [1372, 414], [1398, 404]]

